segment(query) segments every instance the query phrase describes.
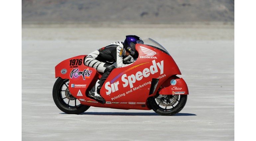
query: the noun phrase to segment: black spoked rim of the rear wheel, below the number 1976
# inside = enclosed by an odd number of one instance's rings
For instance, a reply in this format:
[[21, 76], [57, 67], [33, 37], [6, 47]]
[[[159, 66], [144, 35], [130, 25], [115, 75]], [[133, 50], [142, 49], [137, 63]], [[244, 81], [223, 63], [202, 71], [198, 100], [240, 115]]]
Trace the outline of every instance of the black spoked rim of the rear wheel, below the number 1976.
[[[68, 90], [69, 80], [63, 79], [59, 89], [58, 89], [58, 98], [63, 106], [70, 108], [70, 109], [77, 109], [81, 105], [80, 101], [77, 100], [75, 97]], [[68, 95], [67, 95], [68, 93]]]

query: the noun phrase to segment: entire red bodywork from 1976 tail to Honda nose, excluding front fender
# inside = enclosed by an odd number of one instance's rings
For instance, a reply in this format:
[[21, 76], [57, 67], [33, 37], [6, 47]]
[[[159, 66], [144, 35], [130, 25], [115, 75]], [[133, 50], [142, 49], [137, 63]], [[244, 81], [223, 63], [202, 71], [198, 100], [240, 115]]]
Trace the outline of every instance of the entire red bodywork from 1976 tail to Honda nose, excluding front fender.
[[[81, 104], [115, 109], [151, 110], [148, 97], [155, 96], [160, 86], [173, 75], [181, 74], [173, 58], [150, 45], [136, 44], [138, 59], [131, 65], [114, 69], [103, 84], [100, 95], [105, 104], [87, 97], [88, 90], [101, 77], [95, 69], [84, 65], [85, 55], [69, 58], [55, 67], [56, 78], [69, 79], [69, 91]], [[80, 63], [82, 61], [82, 63]], [[149, 94], [153, 78], [159, 82]]]

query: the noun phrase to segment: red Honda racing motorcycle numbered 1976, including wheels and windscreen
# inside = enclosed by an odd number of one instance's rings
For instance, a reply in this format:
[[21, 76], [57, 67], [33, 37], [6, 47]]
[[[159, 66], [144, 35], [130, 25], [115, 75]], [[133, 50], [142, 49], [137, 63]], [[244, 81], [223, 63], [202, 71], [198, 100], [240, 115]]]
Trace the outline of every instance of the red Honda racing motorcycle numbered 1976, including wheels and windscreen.
[[168, 51], [155, 40], [136, 44], [138, 58], [133, 64], [112, 70], [100, 95], [105, 104], [88, 97], [102, 73], [85, 66], [87, 55], [66, 59], [55, 67], [53, 100], [67, 114], [81, 114], [93, 107], [154, 110], [165, 116], [179, 113], [187, 102], [188, 86]]

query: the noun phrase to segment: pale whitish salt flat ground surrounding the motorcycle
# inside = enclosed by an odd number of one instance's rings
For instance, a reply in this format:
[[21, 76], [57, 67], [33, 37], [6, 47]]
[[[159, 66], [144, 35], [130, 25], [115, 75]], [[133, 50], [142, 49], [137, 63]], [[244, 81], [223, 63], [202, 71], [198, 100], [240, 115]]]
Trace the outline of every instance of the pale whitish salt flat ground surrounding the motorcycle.
[[[54, 67], [64, 59], [88, 54], [115, 40], [64, 39], [63, 36], [68, 36], [66, 32], [56, 32], [58, 38], [49, 32], [49, 38], [41, 39], [39, 31], [48, 33], [39, 28], [22, 31], [23, 140], [234, 140], [232, 30], [223, 33], [231, 35], [231, 39], [224, 40], [204, 38], [204, 34], [184, 39], [147, 36], [157, 38], [166, 47], [182, 72], [180, 77], [188, 84], [187, 104], [175, 116], [159, 116], [153, 110], [95, 107], [81, 115], [64, 114], [52, 98]], [[186, 33], [185, 29], [183, 32]], [[107, 32], [101, 34], [107, 36]]]

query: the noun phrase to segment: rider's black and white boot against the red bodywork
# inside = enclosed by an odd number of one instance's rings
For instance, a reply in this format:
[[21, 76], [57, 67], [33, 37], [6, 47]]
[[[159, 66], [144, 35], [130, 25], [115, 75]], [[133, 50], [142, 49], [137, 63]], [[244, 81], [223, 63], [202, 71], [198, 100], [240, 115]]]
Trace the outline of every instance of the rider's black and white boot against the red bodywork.
[[104, 98], [101, 97], [100, 93], [100, 88], [102, 87], [102, 85], [99, 82], [100, 80], [97, 80], [96, 84], [91, 88], [91, 90], [89, 91], [88, 96], [94, 98], [96, 101], [105, 104], [106, 101], [104, 100]]

